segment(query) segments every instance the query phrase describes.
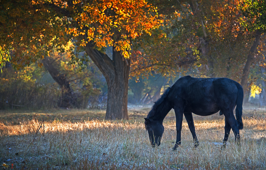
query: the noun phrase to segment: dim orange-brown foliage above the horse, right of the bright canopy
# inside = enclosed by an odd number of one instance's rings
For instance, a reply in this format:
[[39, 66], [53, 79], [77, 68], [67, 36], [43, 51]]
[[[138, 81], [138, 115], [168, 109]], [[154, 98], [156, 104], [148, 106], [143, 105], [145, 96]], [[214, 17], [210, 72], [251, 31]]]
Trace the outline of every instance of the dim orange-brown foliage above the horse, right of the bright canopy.
[[[155, 1], [164, 23], [134, 42], [131, 74], [176, 72], [241, 80], [253, 32], [241, 25], [241, 1]], [[166, 9], [166, 11], [164, 10]], [[161, 35], [166, 35], [161, 36]]]

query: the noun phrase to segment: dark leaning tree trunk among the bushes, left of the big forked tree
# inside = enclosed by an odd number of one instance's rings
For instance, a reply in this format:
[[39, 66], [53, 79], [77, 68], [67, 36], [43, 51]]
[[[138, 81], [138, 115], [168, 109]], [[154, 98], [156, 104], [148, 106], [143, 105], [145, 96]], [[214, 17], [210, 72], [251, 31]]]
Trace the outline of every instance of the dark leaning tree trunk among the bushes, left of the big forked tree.
[[53, 62], [55, 62], [55, 60], [49, 57], [44, 57], [42, 62], [53, 80], [56, 81], [61, 88], [62, 96], [58, 102], [58, 106], [61, 108], [69, 108], [71, 104], [75, 105], [76, 97], [72, 93], [69, 81], [67, 80], [66, 75], [60, 74], [59, 70], [54, 67]]

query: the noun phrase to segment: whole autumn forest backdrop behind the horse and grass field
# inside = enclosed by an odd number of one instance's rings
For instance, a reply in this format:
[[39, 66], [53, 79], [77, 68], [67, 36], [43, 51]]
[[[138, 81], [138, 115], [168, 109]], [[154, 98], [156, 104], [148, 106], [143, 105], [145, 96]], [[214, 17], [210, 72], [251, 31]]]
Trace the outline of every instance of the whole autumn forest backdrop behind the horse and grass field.
[[265, 1], [19, 0], [0, 11], [1, 110], [127, 119], [128, 103], [153, 103], [184, 75], [233, 79], [244, 104], [266, 105]]

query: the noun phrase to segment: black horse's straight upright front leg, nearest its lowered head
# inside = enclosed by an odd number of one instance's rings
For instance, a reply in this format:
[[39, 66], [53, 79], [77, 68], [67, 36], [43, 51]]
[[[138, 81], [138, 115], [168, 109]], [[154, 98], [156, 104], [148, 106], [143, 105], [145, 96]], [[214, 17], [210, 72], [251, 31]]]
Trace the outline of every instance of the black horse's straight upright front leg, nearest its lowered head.
[[182, 129], [182, 121], [183, 121], [183, 110], [174, 109], [176, 114], [176, 144], [173, 147], [173, 151], [178, 148], [181, 144], [181, 129]]

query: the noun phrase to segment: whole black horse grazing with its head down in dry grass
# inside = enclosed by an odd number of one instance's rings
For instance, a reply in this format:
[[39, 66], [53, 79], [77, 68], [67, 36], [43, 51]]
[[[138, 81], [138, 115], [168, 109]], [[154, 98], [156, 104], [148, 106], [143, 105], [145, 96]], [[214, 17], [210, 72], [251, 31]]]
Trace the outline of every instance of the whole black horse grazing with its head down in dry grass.
[[[160, 145], [163, 135], [163, 119], [173, 108], [176, 114], [176, 144], [173, 150], [181, 144], [181, 128], [183, 114], [194, 139], [194, 147], [199, 145], [192, 112], [196, 115], [207, 116], [217, 113], [225, 116], [225, 136], [222, 148], [226, 147], [226, 142], [232, 128], [235, 140], [240, 146], [239, 129], [243, 129], [242, 103], [243, 88], [241, 85], [228, 78], [194, 78], [185, 76], [179, 78], [172, 87], [161, 95], [154, 103], [147, 118], [145, 128], [149, 133], [152, 146]], [[233, 110], [236, 106], [236, 118]]]

